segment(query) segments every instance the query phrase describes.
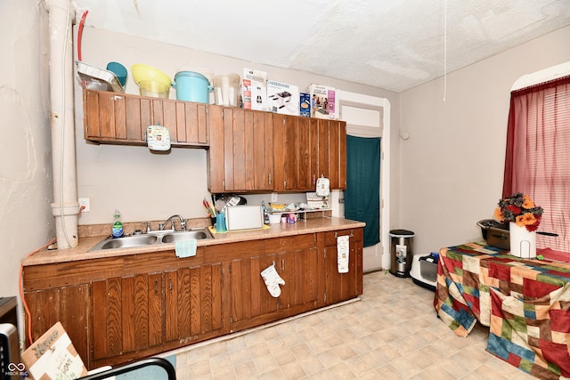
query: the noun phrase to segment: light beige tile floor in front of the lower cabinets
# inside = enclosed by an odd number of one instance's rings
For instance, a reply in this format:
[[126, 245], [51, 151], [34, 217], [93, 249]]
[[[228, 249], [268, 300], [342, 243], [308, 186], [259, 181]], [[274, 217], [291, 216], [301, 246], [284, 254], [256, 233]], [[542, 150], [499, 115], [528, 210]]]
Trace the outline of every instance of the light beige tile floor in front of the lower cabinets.
[[360, 301], [178, 352], [180, 380], [533, 379], [436, 318], [434, 293], [378, 271]]

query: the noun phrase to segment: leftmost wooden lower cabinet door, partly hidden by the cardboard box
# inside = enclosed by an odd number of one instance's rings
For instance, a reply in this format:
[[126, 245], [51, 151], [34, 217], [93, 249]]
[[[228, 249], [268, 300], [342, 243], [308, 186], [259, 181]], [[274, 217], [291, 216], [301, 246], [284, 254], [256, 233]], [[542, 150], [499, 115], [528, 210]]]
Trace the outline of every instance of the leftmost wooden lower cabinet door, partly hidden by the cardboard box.
[[[81, 360], [85, 366], [89, 366], [89, 287], [84, 284], [31, 291], [26, 292], [24, 298], [31, 313], [29, 318], [26, 314], [26, 327], [31, 324], [32, 339], [36, 341], [60, 321]], [[28, 340], [28, 334], [26, 339]]]

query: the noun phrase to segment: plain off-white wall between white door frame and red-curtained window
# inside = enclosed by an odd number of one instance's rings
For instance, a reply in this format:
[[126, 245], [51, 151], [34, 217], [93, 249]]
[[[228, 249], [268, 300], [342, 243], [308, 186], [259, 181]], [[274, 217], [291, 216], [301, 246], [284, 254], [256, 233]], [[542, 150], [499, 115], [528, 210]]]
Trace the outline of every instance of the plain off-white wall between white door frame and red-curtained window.
[[400, 218], [415, 253], [480, 239], [501, 198], [510, 89], [570, 61], [570, 27], [401, 94]]

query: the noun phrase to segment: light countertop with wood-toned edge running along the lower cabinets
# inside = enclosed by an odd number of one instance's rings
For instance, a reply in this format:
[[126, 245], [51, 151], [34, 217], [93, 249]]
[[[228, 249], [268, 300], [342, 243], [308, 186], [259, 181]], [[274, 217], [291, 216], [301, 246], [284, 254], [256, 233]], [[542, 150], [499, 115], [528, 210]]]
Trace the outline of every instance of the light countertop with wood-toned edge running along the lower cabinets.
[[[198, 247], [206, 247], [217, 244], [232, 243], [239, 241], [280, 238], [285, 236], [301, 235], [314, 232], [326, 232], [331, 230], [345, 230], [351, 228], [364, 227], [364, 222], [356, 222], [348, 219], [336, 217], [310, 218], [306, 221], [296, 223], [269, 224], [270, 228], [259, 230], [240, 230], [228, 233], [213, 234], [214, 239], [200, 239], [197, 241]], [[22, 260], [23, 266], [41, 265], [48, 263], [64, 263], [81, 260], [92, 260], [102, 257], [114, 257], [118, 255], [134, 255], [150, 252], [174, 250], [175, 244], [157, 244], [144, 247], [106, 249], [88, 252], [92, 247], [107, 236], [88, 236], [79, 238], [77, 247], [69, 249], [54, 249], [37, 252]]]

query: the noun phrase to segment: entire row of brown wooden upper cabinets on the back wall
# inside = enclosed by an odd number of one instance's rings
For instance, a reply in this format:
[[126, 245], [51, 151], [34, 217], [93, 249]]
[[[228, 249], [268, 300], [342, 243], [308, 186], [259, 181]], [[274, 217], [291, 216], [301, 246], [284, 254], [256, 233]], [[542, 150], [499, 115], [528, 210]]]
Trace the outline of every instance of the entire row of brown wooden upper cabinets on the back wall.
[[146, 145], [165, 125], [174, 147], [208, 149], [212, 193], [313, 191], [316, 179], [346, 189], [346, 123], [190, 101], [84, 90], [84, 136]]

